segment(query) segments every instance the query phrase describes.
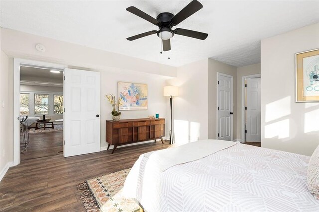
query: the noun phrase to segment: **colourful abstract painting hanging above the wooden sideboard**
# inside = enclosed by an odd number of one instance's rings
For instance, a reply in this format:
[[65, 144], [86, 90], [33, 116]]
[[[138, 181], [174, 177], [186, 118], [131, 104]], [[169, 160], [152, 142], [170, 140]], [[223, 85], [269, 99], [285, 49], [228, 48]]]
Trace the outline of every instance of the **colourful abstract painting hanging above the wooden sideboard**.
[[148, 86], [141, 83], [118, 82], [119, 110], [147, 110]]

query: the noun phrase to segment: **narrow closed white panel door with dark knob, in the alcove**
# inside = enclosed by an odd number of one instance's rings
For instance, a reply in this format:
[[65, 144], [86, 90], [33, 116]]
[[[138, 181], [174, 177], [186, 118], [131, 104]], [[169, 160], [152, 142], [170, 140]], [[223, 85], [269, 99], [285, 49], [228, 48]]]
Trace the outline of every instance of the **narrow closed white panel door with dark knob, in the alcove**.
[[232, 140], [233, 81], [232, 76], [218, 74], [218, 112], [217, 137], [220, 140]]

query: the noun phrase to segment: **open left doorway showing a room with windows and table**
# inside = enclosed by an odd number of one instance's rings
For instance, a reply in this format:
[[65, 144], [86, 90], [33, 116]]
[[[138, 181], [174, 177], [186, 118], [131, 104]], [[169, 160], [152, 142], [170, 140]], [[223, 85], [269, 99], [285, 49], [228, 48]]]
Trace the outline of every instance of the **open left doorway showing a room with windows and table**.
[[20, 65], [21, 160], [63, 154], [63, 70]]

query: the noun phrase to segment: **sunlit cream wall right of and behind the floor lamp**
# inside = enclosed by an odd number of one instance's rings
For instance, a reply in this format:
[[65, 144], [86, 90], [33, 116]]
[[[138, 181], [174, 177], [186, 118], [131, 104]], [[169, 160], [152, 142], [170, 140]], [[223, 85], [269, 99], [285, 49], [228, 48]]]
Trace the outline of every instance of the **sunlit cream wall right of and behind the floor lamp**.
[[[207, 60], [208, 59], [204, 59], [178, 67], [177, 78], [167, 80], [167, 85], [179, 87], [179, 96], [173, 98], [173, 119], [176, 144], [208, 138]], [[169, 126], [169, 98], [167, 98], [167, 105], [166, 123], [168, 123]], [[168, 127], [168, 130], [169, 128], [170, 127]]]

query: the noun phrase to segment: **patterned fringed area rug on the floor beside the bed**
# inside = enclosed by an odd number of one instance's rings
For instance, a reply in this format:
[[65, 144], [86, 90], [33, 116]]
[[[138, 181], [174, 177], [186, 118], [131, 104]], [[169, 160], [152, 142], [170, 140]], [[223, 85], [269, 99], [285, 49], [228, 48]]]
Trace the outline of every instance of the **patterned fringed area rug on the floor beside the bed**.
[[137, 212], [139, 205], [124, 198], [122, 188], [130, 169], [103, 175], [79, 184], [84, 208], [87, 212]]

